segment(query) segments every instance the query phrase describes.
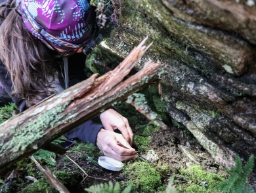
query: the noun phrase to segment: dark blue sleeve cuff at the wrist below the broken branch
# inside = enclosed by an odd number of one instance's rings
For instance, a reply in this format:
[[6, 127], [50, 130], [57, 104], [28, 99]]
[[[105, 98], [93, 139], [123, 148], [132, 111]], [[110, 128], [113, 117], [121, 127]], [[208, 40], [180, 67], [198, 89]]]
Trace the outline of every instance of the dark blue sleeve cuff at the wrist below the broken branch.
[[101, 128], [103, 128], [102, 125], [97, 125], [92, 120], [89, 120], [64, 135], [70, 139], [80, 139], [81, 141], [91, 142], [96, 145], [96, 138]]

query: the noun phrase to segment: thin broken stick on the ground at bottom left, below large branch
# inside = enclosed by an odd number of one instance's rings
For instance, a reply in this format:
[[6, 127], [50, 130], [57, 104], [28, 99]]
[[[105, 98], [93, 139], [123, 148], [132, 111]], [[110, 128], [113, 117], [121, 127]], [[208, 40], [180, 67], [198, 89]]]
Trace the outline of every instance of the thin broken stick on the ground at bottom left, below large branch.
[[60, 193], [70, 193], [66, 186], [64, 186], [62, 183], [60, 183], [60, 181], [58, 181], [56, 176], [53, 175], [49, 168], [47, 168], [47, 170], [43, 169], [43, 167], [37, 162], [37, 160], [35, 160], [33, 156], [30, 156], [30, 158], [35, 163], [37, 168], [41, 171], [41, 173], [43, 173], [43, 176], [53, 188], [58, 190], [58, 192]]

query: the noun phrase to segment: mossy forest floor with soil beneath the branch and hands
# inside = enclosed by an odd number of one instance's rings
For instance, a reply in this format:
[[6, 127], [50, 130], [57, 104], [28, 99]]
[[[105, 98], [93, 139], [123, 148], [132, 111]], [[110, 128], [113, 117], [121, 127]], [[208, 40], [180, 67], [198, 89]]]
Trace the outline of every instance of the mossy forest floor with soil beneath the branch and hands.
[[[213, 189], [226, 173], [181, 124], [167, 121], [170, 129], [163, 130], [126, 103], [119, 104], [118, 109], [129, 119], [135, 133], [133, 147], [151, 164], [137, 158], [124, 162], [121, 171], [110, 171], [97, 163], [102, 152], [81, 141], [75, 141], [66, 155], [85, 170], [87, 177], [64, 155], [41, 150], [34, 154], [35, 158], [43, 167], [49, 167], [70, 192], [87, 192], [85, 188], [89, 186], [110, 181], [119, 182], [121, 189], [131, 184], [131, 192], [165, 192], [171, 176], [175, 177], [178, 192], [215, 192]], [[158, 113], [165, 116], [164, 112]], [[0, 192], [58, 192], [49, 186], [30, 158], [2, 169], [0, 188]]]

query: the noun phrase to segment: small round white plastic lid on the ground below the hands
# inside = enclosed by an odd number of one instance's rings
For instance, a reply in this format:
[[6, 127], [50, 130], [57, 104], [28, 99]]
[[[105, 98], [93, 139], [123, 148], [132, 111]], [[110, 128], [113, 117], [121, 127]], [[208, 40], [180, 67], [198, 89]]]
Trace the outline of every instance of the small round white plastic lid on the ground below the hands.
[[123, 169], [123, 163], [119, 162], [113, 158], [109, 158], [107, 156], [101, 156], [98, 158], [98, 164], [101, 167], [104, 167], [106, 169], [112, 170], [112, 171], [120, 171]]

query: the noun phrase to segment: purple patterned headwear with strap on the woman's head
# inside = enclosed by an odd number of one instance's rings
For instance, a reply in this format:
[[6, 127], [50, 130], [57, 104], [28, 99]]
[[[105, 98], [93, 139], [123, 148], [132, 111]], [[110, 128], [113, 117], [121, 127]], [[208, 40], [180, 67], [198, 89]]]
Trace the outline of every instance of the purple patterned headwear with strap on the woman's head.
[[22, 0], [20, 9], [33, 36], [64, 50], [78, 48], [95, 27], [95, 7], [87, 0]]

